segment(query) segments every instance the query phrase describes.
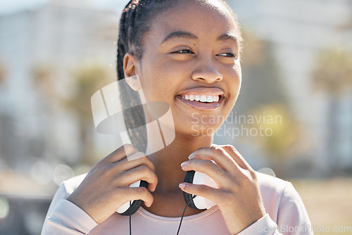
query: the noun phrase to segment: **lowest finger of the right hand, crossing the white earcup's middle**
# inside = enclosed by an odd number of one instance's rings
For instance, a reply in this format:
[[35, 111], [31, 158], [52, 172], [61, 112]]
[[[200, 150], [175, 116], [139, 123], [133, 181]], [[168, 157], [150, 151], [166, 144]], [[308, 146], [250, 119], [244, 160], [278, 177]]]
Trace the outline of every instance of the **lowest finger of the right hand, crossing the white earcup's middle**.
[[213, 187], [206, 186], [203, 184], [182, 183], [182, 184], [179, 184], [179, 187], [180, 189], [182, 189], [182, 191], [186, 193], [194, 194], [196, 196], [202, 196], [217, 204], [218, 204], [219, 198], [222, 198], [221, 189], [214, 189]]

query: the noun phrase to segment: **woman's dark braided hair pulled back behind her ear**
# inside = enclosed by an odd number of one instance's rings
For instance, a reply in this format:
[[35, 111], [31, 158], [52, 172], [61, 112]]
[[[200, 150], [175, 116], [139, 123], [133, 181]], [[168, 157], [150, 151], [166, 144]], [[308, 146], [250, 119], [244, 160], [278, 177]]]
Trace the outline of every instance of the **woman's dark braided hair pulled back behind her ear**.
[[[230, 10], [235, 23], [237, 23], [237, 18], [232, 12], [230, 6], [227, 5], [226, 1], [219, 1]], [[156, 16], [156, 13], [172, 8], [177, 2], [177, 0], [131, 0], [125, 6], [120, 18], [120, 32], [118, 35], [118, 80], [125, 78], [123, 58], [126, 53], [131, 53], [137, 60], [142, 59], [142, 39], [144, 34], [151, 30], [151, 20]], [[133, 91], [130, 87], [127, 87], [127, 89], [120, 87], [120, 96], [120, 99], [122, 100], [122, 108], [124, 110], [125, 124], [132, 144], [139, 151], [144, 152], [146, 150], [146, 120], [143, 107], [137, 106], [141, 103], [139, 94]], [[137, 127], [139, 127], [138, 130], [135, 129]]]

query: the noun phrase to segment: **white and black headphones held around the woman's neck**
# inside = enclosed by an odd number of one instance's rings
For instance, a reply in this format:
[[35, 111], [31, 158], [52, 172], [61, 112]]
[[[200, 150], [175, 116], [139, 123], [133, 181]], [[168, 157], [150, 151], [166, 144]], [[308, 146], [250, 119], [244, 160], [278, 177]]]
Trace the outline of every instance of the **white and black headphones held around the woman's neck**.
[[[204, 184], [213, 188], [216, 188], [216, 183], [214, 179], [208, 177], [207, 174], [203, 172], [196, 172], [194, 170], [190, 170], [186, 172], [186, 176], [184, 177], [184, 182], [191, 184]], [[148, 185], [144, 180], [139, 180], [130, 185], [130, 187], [145, 187]], [[186, 201], [187, 205], [191, 208], [197, 210], [210, 209], [215, 205], [213, 201], [208, 200], [207, 198], [203, 198], [201, 196], [195, 196], [193, 194], [189, 194], [183, 192], [184, 201]], [[131, 201], [131, 211], [130, 211], [130, 202], [123, 204], [116, 212], [120, 215], [133, 215], [134, 212], [137, 212], [139, 207], [142, 205], [142, 200]]]

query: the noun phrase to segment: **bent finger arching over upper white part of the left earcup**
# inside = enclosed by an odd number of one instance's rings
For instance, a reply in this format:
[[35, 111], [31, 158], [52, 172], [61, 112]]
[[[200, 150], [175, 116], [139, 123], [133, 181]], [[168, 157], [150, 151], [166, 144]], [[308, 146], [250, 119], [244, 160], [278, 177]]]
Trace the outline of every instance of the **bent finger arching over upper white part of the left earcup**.
[[154, 191], [156, 189], [156, 185], [158, 184], [158, 177], [156, 176], [156, 173], [146, 165], [139, 165], [138, 167], [134, 167], [131, 170], [123, 172], [118, 184], [130, 186], [139, 180], [148, 182], [148, 189], [150, 191]]

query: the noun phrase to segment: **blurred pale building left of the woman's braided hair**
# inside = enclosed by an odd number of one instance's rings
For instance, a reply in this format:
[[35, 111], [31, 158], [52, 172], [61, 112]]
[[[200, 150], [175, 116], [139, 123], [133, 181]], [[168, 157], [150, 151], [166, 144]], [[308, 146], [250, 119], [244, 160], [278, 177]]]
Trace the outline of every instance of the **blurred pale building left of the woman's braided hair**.
[[[77, 118], [53, 106], [48, 94], [71, 96], [72, 72], [82, 65], [99, 63], [115, 79], [118, 20], [118, 13], [96, 11], [84, 1], [50, 1], [0, 17], [0, 159], [26, 168], [27, 158], [56, 148], [68, 163], [79, 160]], [[54, 80], [54, 86], [44, 84], [47, 94], [38, 76]]]

